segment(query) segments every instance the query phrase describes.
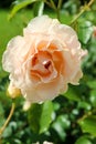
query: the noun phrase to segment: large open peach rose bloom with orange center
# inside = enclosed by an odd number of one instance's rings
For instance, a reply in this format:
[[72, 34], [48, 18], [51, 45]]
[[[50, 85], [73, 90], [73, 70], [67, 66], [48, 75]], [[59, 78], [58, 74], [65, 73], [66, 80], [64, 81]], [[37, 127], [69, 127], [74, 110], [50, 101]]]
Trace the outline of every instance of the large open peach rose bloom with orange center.
[[68, 83], [78, 84], [84, 54], [71, 27], [42, 16], [8, 43], [2, 65], [26, 101], [43, 102], [66, 92]]

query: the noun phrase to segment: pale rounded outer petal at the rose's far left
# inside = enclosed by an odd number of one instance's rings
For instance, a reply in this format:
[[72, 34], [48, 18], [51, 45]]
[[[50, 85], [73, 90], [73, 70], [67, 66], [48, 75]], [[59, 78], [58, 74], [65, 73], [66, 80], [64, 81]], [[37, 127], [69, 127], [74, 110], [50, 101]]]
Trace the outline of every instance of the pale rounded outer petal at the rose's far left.
[[10, 40], [2, 56], [3, 69], [8, 72], [18, 72], [28, 56], [31, 44], [29, 39], [20, 35]]

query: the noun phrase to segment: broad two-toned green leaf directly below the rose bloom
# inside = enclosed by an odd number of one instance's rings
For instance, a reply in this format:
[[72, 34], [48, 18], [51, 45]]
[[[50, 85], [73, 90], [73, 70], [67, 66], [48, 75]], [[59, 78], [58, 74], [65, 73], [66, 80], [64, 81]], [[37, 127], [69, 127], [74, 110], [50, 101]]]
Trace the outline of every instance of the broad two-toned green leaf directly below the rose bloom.
[[33, 132], [45, 132], [52, 122], [53, 104], [47, 101], [43, 104], [32, 104], [29, 110], [29, 123]]

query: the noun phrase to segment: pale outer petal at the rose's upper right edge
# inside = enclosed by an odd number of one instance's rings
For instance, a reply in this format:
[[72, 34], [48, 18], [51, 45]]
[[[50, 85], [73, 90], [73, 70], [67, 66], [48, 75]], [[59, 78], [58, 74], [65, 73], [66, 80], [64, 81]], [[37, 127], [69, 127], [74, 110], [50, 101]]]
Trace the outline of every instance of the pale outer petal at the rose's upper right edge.
[[70, 49], [73, 55], [81, 54], [81, 43], [77, 39], [76, 32], [68, 25], [56, 23], [50, 29], [50, 33], [58, 38], [61, 44], [64, 49]]

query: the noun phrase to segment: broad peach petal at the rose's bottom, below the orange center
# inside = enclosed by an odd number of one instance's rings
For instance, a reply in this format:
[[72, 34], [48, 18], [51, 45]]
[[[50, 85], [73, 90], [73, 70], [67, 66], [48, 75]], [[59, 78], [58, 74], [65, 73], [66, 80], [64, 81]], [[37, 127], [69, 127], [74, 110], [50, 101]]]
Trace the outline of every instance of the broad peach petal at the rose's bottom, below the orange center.
[[41, 95], [42, 101], [53, 100], [54, 97], [58, 96], [62, 90], [63, 92], [66, 92], [66, 85], [67, 84], [64, 84], [63, 78], [60, 75], [50, 83], [39, 85], [36, 92], [39, 95]]

